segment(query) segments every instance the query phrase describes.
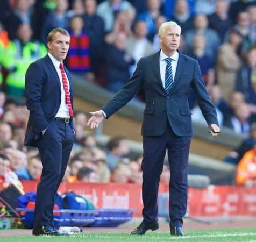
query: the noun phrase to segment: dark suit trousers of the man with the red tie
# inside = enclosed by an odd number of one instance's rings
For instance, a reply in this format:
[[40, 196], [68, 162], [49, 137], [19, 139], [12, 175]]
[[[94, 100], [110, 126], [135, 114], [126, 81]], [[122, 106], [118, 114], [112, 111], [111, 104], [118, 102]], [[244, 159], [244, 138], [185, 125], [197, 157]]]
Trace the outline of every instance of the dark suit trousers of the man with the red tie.
[[37, 142], [43, 169], [37, 187], [34, 227], [53, 226], [55, 196], [67, 168], [74, 133], [68, 123], [49, 120], [49, 128]]

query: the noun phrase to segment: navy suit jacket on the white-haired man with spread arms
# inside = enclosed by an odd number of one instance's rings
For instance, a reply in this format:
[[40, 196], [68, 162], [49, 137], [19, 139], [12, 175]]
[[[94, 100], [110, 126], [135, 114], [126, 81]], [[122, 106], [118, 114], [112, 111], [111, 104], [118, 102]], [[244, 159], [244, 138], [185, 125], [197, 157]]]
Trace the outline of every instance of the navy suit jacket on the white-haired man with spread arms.
[[159, 58], [160, 51], [139, 60], [131, 79], [103, 106], [106, 118], [122, 108], [143, 88], [146, 101], [141, 129], [143, 136], [160, 136], [166, 130], [167, 121], [177, 136], [193, 136], [188, 105], [189, 90], [193, 88], [207, 123], [218, 125], [215, 106], [205, 90], [198, 62], [179, 52], [174, 84], [167, 95], [161, 81]]

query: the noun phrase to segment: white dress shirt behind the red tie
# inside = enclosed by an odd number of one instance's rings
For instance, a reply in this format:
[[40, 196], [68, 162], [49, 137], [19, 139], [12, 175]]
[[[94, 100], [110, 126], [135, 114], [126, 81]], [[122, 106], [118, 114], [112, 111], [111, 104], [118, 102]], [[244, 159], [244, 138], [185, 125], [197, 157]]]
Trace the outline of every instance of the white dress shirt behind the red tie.
[[[49, 58], [51, 58], [52, 62], [53, 62], [53, 65], [56, 69], [56, 72], [58, 73], [58, 76], [59, 76], [59, 81], [60, 81], [60, 87], [61, 87], [61, 102], [60, 102], [60, 108], [55, 116], [55, 118], [67, 118], [69, 117], [69, 111], [68, 111], [68, 105], [66, 104], [65, 102], [65, 91], [64, 91], [64, 88], [63, 88], [63, 84], [62, 84], [62, 77], [61, 77], [61, 70], [60, 70], [60, 61], [56, 60], [56, 58], [48, 53], [49, 55]], [[66, 75], [66, 73], [65, 73]], [[68, 80], [68, 77], [66, 75], [66, 78]], [[69, 90], [69, 82], [68, 82], [68, 90]]]

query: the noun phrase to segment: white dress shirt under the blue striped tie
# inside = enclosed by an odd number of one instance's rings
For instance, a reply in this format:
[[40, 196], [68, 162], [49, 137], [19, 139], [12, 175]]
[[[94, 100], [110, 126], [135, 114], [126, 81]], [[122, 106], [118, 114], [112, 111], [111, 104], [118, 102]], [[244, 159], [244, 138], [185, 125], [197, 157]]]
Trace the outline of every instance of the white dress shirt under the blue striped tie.
[[167, 56], [165, 53], [163, 53], [162, 49], [160, 51], [160, 58], [159, 58], [159, 63], [160, 63], [160, 76], [161, 76], [161, 81], [162, 85], [165, 88], [165, 70], [166, 70], [166, 65], [167, 61], [165, 60], [166, 58], [172, 58], [172, 70], [173, 70], [173, 80], [176, 74], [176, 69], [177, 69], [177, 63], [179, 60], [179, 52], [175, 52], [172, 56]]

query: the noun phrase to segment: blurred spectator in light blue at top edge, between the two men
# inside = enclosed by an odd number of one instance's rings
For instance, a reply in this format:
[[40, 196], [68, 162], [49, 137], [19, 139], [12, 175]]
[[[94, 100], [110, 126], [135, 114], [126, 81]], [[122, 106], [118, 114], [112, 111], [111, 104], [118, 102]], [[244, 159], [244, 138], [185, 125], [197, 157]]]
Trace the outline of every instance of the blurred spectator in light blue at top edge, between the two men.
[[129, 8], [132, 8], [132, 5], [126, 0], [105, 0], [100, 3], [96, 12], [104, 20], [105, 32], [112, 30], [116, 13]]

